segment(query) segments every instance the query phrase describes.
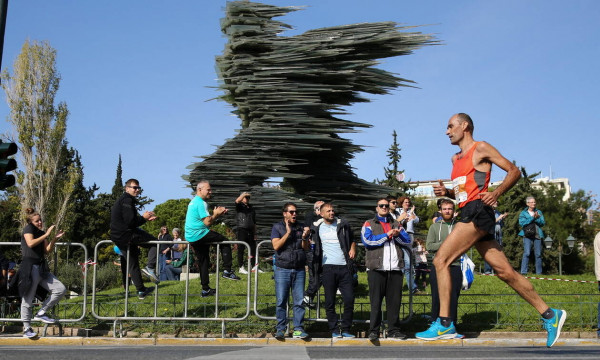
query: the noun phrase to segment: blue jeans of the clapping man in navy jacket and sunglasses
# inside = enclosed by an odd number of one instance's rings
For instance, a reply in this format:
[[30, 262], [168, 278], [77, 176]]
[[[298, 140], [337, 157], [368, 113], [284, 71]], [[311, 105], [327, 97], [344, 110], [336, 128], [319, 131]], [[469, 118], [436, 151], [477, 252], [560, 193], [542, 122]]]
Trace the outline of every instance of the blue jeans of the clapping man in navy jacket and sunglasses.
[[277, 304], [275, 316], [277, 317], [277, 330], [285, 331], [287, 326], [287, 305], [292, 290], [294, 330], [304, 331], [304, 279], [306, 272], [301, 270], [275, 268], [275, 297]]

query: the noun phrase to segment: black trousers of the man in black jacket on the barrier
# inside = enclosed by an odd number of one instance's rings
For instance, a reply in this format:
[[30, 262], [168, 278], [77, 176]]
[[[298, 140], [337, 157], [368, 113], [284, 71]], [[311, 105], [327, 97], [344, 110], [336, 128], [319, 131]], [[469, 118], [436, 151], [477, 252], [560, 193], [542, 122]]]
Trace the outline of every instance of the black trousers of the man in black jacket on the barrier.
[[[129, 275], [131, 281], [135, 285], [137, 291], [144, 291], [146, 287], [142, 281], [142, 272], [140, 271], [140, 249], [138, 246], [148, 248], [148, 267], [156, 269], [156, 244], [148, 244], [148, 241], [154, 241], [156, 238], [142, 229], [134, 229], [131, 235], [131, 241], [129, 243], [115, 242], [121, 250], [123, 259], [127, 259], [127, 253], [129, 252], [129, 262], [127, 267], [129, 269]], [[127, 276], [126, 274], [124, 276]], [[125, 284], [125, 283], [123, 283]]]

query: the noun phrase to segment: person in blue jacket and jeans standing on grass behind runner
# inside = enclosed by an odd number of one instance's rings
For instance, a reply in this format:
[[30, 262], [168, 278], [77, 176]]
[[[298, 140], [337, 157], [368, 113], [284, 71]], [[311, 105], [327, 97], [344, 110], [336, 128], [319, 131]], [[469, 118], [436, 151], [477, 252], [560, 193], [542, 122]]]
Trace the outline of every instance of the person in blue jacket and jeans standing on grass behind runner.
[[[544, 239], [544, 232], [542, 226], [546, 224], [544, 220], [544, 214], [535, 207], [535, 199], [533, 196], [528, 196], [525, 200], [527, 207], [519, 214], [519, 225], [521, 231], [519, 236], [523, 237], [523, 259], [521, 260], [521, 274], [527, 274], [527, 268], [529, 265], [529, 255], [531, 254], [531, 246], [533, 245], [533, 251], [535, 254], [535, 273], [542, 273], [542, 240]], [[529, 233], [526, 233], [526, 229], [531, 228]]]

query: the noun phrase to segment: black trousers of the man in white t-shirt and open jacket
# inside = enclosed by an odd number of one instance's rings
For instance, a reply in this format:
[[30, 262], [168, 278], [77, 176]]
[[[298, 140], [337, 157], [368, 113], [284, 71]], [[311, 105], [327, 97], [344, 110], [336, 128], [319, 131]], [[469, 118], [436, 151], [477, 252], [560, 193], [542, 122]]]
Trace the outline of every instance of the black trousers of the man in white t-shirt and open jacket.
[[352, 274], [346, 265], [323, 265], [321, 282], [325, 290], [325, 313], [329, 331], [338, 331], [338, 317], [335, 313], [335, 296], [337, 289], [342, 293], [344, 313], [342, 314], [342, 331], [350, 331], [354, 315], [354, 287]]

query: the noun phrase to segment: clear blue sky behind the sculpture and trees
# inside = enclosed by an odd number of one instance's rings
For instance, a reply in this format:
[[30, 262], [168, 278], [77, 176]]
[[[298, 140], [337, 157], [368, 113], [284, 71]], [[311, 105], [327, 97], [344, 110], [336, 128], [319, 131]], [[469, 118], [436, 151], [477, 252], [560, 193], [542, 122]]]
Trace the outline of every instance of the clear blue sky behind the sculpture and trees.
[[[427, 25], [441, 46], [384, 59], [380, 67], [416, 81], [349, 108], [347, 119], [373, 128], [350, 137], [365, 146], [352, 166], [366, 180], [383, 177], [393, 130], [401, 168], [412, 180], [448, 178], [458, 148], [448, 118], [466, 112], [475, 139], [496, 146], [529, 173], [568, 177], [574, 190], [600, 193], [600, 2], [596, 0], [281, 0], [307, 7], [279, 20], [294, 29], [358, 22]], [[215, 56], [226, 39], [221, 0], [10, 1], [2, 68], [26, 39], [58, 52], [58, 101], [67, 103], [67, 138], [79, 150], [86, 185], [109, 192], [119, 154], [159, 204], [190, 196], [181, 176], [196, 156], [235, 136], [232, 108], [220, 94]], [[5, 98], [2, 94], [3, 99]], [[0, 117], [6, 118], [6, 101]], [[0, 121], [0, 132], [8, 130]], [[581, 159], [581, 160], [580, 160]], [[585, 161], [585, 162], [584, 162]], [[596, 164], [596, 165], [594, 165]], [[494, 168], [492, 180], [504, 173]], [[218, 191], [218, 184], [213, 184]], [[233, 199], [232, 199], [233, 200]]]

